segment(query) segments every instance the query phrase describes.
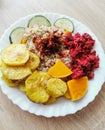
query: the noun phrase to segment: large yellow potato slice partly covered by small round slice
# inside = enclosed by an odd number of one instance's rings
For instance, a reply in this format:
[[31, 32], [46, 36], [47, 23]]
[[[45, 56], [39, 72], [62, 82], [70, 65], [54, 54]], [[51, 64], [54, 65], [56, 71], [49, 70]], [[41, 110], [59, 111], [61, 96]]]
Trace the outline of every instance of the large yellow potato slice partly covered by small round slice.
[[47, 102], [49, 94], [46, 92], [46, 82], [50, 76], [45, 72], [35, 71], [25, 81], [26, 94], [30, 100], [37, 103]]

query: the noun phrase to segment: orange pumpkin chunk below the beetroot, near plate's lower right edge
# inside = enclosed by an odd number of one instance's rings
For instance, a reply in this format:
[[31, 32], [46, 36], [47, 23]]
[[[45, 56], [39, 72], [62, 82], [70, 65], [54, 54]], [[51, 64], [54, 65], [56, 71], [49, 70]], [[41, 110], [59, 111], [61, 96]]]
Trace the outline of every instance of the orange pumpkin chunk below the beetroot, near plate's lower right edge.
[[67, 82], [71, 100], [79, 100], [81, 99], [87, 92], [88, 89], [88, 78], [84, 76], [80, 79], [73, 79]]

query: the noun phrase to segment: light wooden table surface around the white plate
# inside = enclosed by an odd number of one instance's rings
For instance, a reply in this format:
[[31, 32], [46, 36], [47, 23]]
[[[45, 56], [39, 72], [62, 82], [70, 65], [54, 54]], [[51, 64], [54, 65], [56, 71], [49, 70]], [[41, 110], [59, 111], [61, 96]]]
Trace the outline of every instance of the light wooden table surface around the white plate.
[[[19, 18], [58, 12], [91, 28], [105, 50], [105, 0], [0, 0], [0, 35]], [[0, 90], [0, 130], [105, 130], [105, 84], [95, 100], [74, 115], [45, 118], [21, 110]]]

